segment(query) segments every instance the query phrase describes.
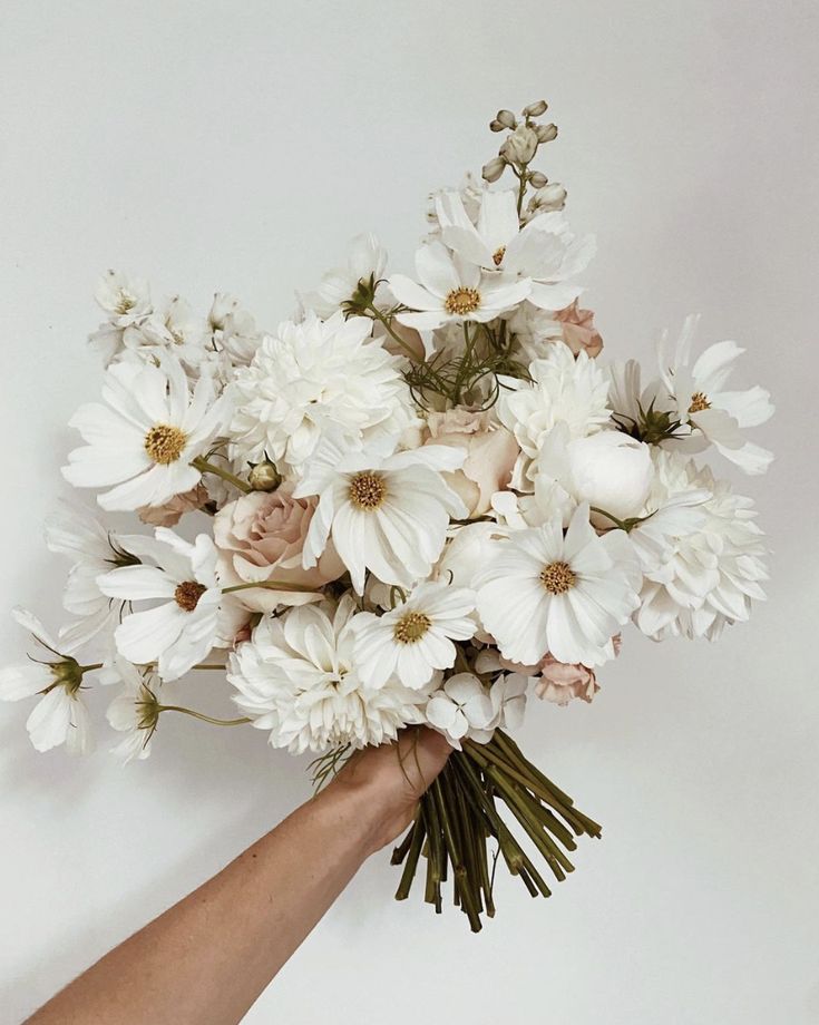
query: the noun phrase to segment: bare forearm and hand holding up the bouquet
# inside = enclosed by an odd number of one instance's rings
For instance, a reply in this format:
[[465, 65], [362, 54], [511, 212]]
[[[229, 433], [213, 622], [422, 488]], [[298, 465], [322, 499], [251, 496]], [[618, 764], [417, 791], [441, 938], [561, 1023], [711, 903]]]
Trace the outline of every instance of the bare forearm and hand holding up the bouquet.
[[412, 821], [451, 749], [431, 730], [367, 748], [217, 876], [38, 1011], [29, 1025], [231, 1025], [363, 861]]

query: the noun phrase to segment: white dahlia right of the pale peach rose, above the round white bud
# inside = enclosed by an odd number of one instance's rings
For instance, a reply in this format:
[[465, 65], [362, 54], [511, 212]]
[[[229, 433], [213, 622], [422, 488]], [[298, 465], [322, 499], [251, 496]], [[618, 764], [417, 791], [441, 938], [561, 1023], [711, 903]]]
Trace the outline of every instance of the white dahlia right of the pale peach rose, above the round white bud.
[[532, 460], [548, 432], [565, 423], [571, 438], [585, 438], [610, 420], [608, 377], [596, 360], [581, 352], [575, 359], [568, 345], [556, 342], [542, 360], [529, 367], [532, 382], [504, 379], [498, 418], [521, 449], [515, 487], [524, 485]]

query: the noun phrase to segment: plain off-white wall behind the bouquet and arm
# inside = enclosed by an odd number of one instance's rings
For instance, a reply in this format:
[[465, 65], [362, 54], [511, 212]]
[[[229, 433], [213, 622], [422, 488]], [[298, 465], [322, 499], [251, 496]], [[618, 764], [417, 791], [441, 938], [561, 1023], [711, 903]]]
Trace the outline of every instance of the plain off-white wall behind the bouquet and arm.
[[[247, 1016], [819, 1022], [817, 970], [817, 32], [813, 0], [2, 0], [0, 651], [17, 602], [56, 625], [40, 539], [108, 266], [263, 324], [378, 232], [409, 267], [432, 186], [478, 169], [498, 106], [546, 97], [599, 253], [607, 354], [703, 313], [773, 391], [754, 495], [770, 602], [716, 646], [634, 633], [594, 705], [533, 707], [525, 746], [605, 826], [549, 901], [500, 873], [474, 937], [368, 863]], [[216, 681], [201, 703], [226, 711]], [[198, 701], [198, 696], [196, 699]], [[101, 718], [103, 703], [98, 702]], [[16, 1023], [309, 793], [253, 731], [163, 720], [147, 763], [37, 755], [0, 709], [0, 1019]]]

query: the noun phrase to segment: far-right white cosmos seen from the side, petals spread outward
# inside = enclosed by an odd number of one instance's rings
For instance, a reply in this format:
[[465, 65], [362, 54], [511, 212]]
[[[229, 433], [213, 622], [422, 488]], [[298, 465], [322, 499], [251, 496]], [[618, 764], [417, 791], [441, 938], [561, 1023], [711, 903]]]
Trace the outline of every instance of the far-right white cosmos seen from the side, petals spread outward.
[[698, 316], [685, 320], [670, 367], [665, 365], [664, 339], [660, 344], [661, 373], [673, 396], [676, 417], [692, 431], [689, 438], [672, 439], [667, 445], [695, 452], [710, 443], [747, 474], [764, 474], [773, 455], [747, 441], [742, 430], [771, 418], [770, 392], [759, 385], [747, 391], [725, 391], [733, 364], [744, 352], [735, 342], [710, 345], [691, 367], [691, 343], [698, 323]]

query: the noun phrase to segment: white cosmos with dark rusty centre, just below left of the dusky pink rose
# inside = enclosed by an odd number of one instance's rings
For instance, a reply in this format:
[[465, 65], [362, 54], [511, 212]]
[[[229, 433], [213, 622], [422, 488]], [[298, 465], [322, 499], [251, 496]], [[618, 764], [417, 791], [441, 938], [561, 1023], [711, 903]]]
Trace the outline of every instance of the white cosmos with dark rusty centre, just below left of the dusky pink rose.
[[163, 680], [178, 680], [224, 643], [216, 548], [207, 534], [189, 544], [167, 527], [157, 527], [154, 541], [145, 538], [144, 551], [157, 565], [113, 569], [99, 578], [99, 587], [123, 602], [162, 603], [126, 616], [115, 640], [129, 662], [157, 662]]

